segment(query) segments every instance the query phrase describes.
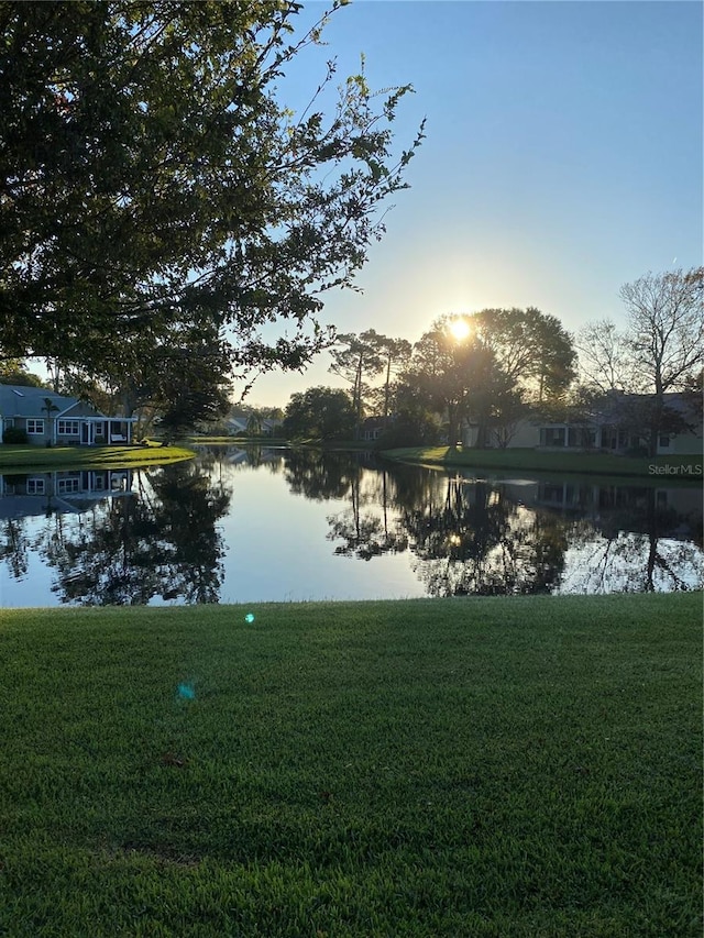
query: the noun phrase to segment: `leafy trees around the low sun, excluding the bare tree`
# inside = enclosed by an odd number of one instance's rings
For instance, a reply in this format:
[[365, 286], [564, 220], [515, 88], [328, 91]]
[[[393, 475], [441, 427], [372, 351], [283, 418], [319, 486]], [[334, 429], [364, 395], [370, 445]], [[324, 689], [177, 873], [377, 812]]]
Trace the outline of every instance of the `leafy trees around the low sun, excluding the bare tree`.
[[490, 431], [505, 430], [528, 402], [563, 396], [574, 361], [560, 321], [535, 308], [443, 316], [413, 345], [374, 329], [343, 334], [330, 371], [350, 384], [344, 400], [332, 388], [295, 395], [284, 427], [294, 435], [326, 435], [316, 412], [334, 400], [340, 422], [332, 435], [359, 438], [364, 418], [375, 416], [385, 443], [433, 442], [443, 422], [454, 442], [472, 419], [479, 421], [479, 445], [486, 445]]

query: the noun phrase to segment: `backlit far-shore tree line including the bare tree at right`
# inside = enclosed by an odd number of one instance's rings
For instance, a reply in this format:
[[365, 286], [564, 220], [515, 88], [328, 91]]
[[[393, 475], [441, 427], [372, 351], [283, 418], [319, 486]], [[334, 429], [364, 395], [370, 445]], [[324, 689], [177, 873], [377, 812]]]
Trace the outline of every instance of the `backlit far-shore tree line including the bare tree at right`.
[[374, 329], [341, 334], [330, 372], [349, 389], [294, 395], [285, 432], [360, 438], [376, 417], [380, 445], [453, 444], [471, 424], [474, 445], [501, 446], [528, 415], [579, 423], [612, 405], [654, 453], [660, 433], [693, 429], [667, 394], [689, 393], [701, 413], [703, 284], [704, 268], [647, 274], [622, 287], [623, 331], [594, 322], [576, 339], [534, 307], [442, 316], [413, 345]]

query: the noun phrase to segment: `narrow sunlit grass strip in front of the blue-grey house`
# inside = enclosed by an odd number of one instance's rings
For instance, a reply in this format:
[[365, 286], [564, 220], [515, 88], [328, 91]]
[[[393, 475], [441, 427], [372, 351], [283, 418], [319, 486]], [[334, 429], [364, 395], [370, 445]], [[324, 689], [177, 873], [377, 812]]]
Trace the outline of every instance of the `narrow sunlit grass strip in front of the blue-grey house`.
[[139, 468], [193, 459], [184, 446], [0, 446], [0, 473], [54, 472], [72, 468]]

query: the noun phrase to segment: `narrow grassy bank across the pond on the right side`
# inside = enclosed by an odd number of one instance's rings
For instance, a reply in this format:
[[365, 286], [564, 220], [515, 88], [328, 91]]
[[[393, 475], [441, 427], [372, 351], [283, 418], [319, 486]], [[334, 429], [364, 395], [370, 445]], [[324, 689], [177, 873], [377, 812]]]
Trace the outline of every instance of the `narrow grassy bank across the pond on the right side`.
[[702, 482], [701, 455], [654, 457], [616, 456], [608, 453], [560, 453], [531, 449], [474, 450], [454, 446], [413, 446], [384, 452], [402, 462], [438, 464], [463, 468], [494, 468], [508, 472], [556, 472], [580, 475], [629, 476], [660, 482]]

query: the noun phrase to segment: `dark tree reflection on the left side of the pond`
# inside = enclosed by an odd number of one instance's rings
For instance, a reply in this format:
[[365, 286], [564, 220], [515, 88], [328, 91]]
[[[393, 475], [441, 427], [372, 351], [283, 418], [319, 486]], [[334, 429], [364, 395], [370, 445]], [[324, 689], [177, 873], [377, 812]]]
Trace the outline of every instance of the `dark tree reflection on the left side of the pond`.
[[[80, 477], [94, 473], [75, 473], [75, 483], [67, 486], [69, 475], [28, 479], [31, 493], [41, 492], [33, 507], [43, 506], [45, 520], [32, 534], [22, 521], [2, 522], [1, 550], [13, 570], [16, 556], [30, 549], [37, 552], [55, 571], [51, 588], [61, 603], [141, 605], [156, 596], [218, 602], [224, 545], [215, 522], [230, 503], [223, 486], [211, 483], [195, 463], [122, 473], [129, 486], [122, 497], [116, 497], [116, 485], [96, 489]], [[15, 481], [13, 488], [18, 486], [19, 497], [31, 505], [28, 483]], [[16, 506], [7, 485], [6, 505]]]

